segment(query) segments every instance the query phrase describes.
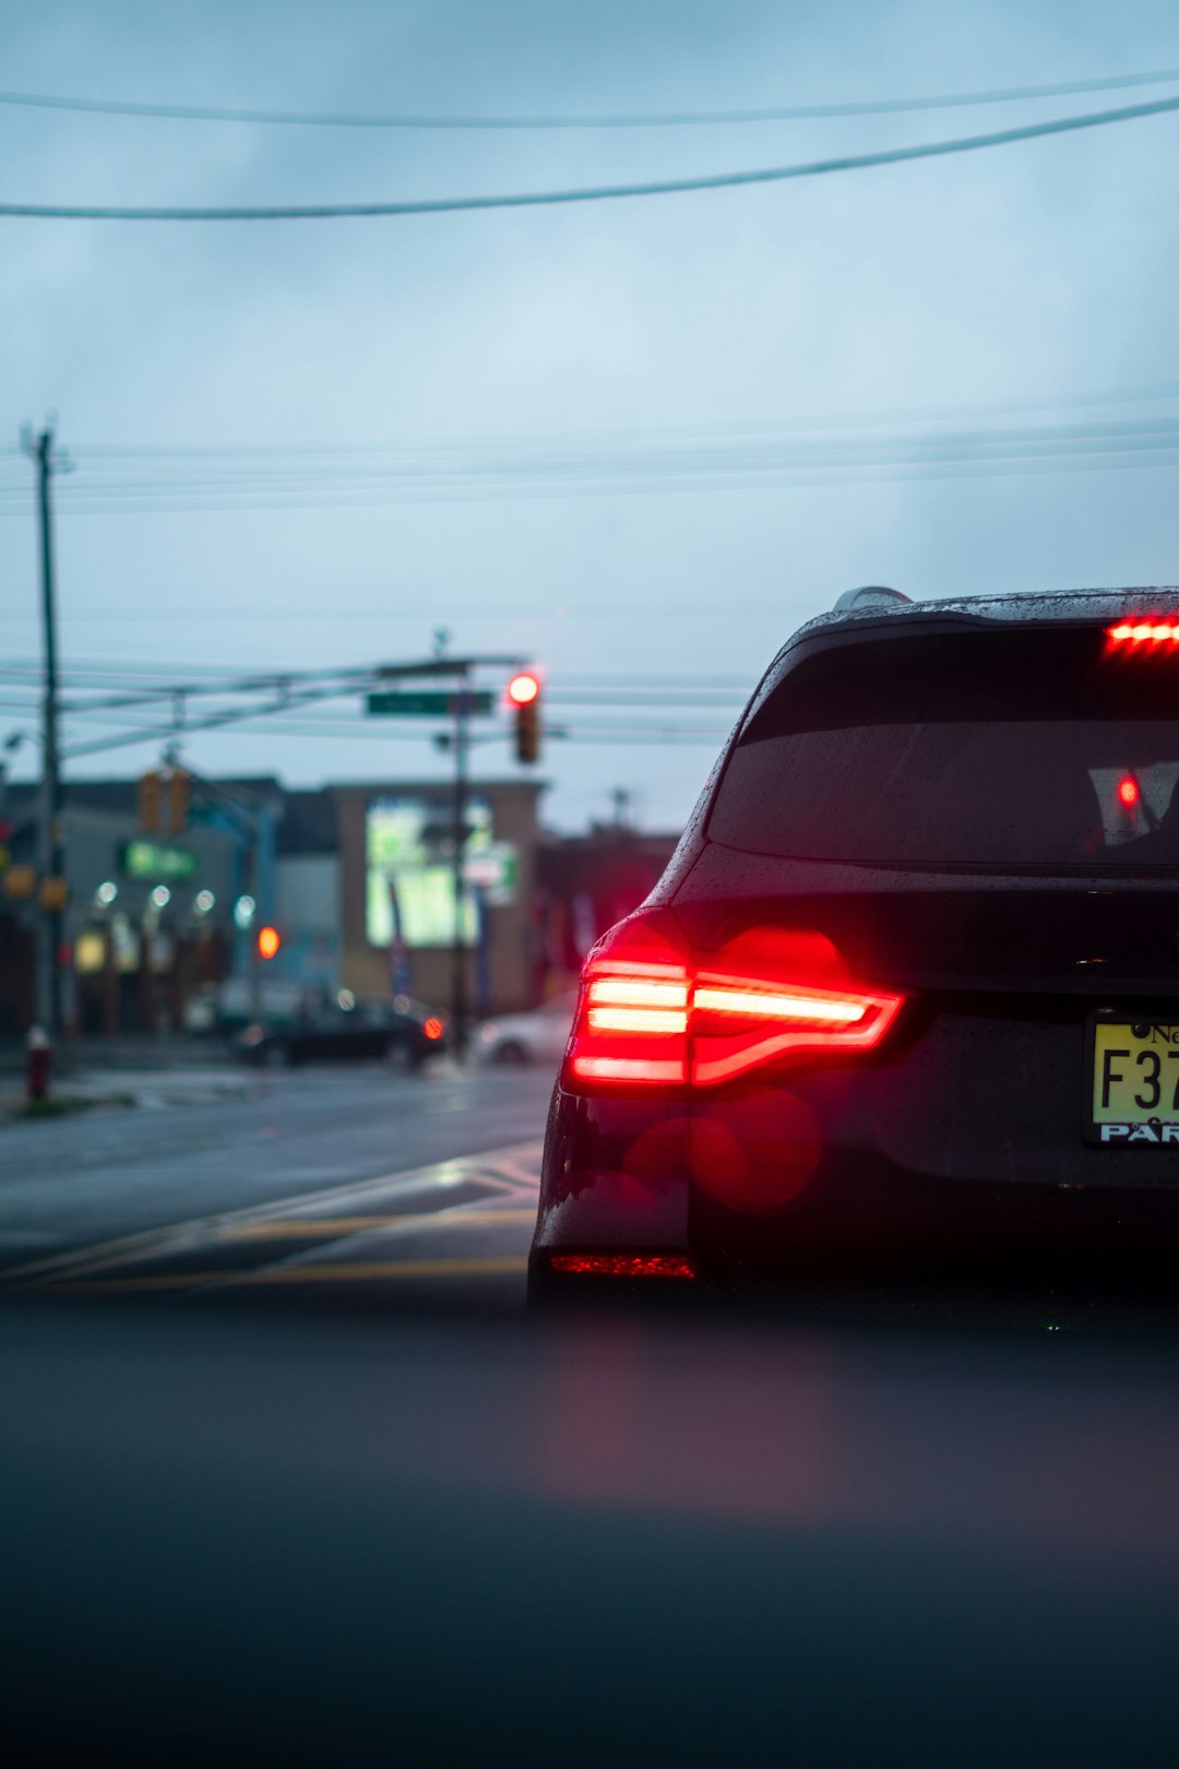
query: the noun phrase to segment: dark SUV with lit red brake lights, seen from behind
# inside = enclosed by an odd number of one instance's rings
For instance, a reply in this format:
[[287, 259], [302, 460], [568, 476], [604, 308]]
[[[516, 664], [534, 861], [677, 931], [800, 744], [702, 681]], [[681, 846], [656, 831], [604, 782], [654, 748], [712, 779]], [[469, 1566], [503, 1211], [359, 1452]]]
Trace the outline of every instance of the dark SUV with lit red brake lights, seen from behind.
[[585, 962], [534, 1288], [1174, 1254], [1175, 610], [868, 589], [788, 640]]

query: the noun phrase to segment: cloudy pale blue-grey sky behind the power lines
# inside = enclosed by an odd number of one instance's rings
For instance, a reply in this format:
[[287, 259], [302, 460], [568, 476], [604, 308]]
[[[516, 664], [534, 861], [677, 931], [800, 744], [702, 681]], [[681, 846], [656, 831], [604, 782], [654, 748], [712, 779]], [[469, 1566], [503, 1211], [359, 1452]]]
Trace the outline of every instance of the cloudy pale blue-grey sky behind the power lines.
[[[0, 87], [300, 110], [617, 111], [955, 92], [1179, 65], [1174, 0], [0, 0]], [[1161, 88], [1160, 88], [1161, 90]], [[1170, 90], [1179, 90], [1179, 81]], [[1130, 94], [1149, 97], [1152, 92]], [[253, 203], [675, 177], [1098, 110], [1119, 97], [900, 117], [612, 133], [378, 133], [0, 106], [0, 200]], [[0, 444], [60, 414], [67, 665], [320, 667], [458, 649], [589, 676], [753, 683], [847, 586], [914, 596], [1174, 582], [1174, 455], [1094, 471], [734, 476], [781, 435], [1165, 417], [1179, 384], [1179, 119], [799, 184], [408, 219], [134, 226], [0, 219]], [[1004, 403], [1043, 410], [993, 414]], [[1053, 402], [1064, 402], [1053, 409]], [[879, 414], [880, 426], [841, 426]], [[831, 423], [831, 430], [792, 430]], [[900, 426], [900, 430], [898, 430]], [[585, 437], [603, 479], [536, 463]], [[712, 463], [617, 467], [658, 437]], [[87, 501], [95, 446], [470, 444], [530, 462], [472, 494], [361, 481]], [[654, 444], [647, 442], [645, 448]], [[613, 453], [612, 453], [613, 451]], [[642, 449], [640, 449], [642, 453]], [[714, 467], [719, 455], [721, 467]], [[382, 456], [385, 458], [385, 456]], [[444, 451], [444, 460], [454, 460]], [[274, 456], [262, 456], [262, 465]], [[221, 463], [221, 469], [224, 463]], [[1059, 462], [1057, 462], [1059, 467]], [[219, 469], [219, 471], [221, 471]], [[186, 467], [184, 472], [189, 472]], [[281, 476], [286, 474], [286, 479]], [[734, 483], [734, 479], [737, 483]], [[32, 504], [0, 456], [5, 658], [37, 655]], [[0, 715], [4, 716], [4, 715]], [[566, 716], [562, 709], [562, 718]], [[601, 715], [594, 715], [596, 718]], [[576, 724], [573, 711], [569, 724]], [[725, 716], [681, 709], [666, 724]], [[81, 732], [76, 732], [81, 734]], [[87, 771], [131, 771], [120, 750]], [[421, 738], [194, 738], [212, 771], [419, 775]], [[479, 752], [484, 771], [506, 752]], [[636, 794], [673, 826], [707, 747], [551, 745], [550, 817]], [[21, 766], [32, 766], [23, 752]]]

